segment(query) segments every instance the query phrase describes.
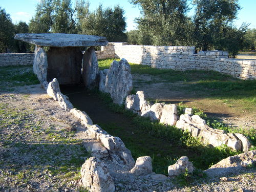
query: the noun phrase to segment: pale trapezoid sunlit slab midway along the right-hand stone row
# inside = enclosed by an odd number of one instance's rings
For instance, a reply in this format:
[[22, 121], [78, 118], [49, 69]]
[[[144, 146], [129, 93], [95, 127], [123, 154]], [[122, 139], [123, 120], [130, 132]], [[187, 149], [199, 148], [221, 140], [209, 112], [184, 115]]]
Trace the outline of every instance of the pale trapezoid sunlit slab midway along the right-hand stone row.
[[165, 104], [160, 119], [160, 123], [173, 126], [178, 120], [177, 107], [175, 104]]

